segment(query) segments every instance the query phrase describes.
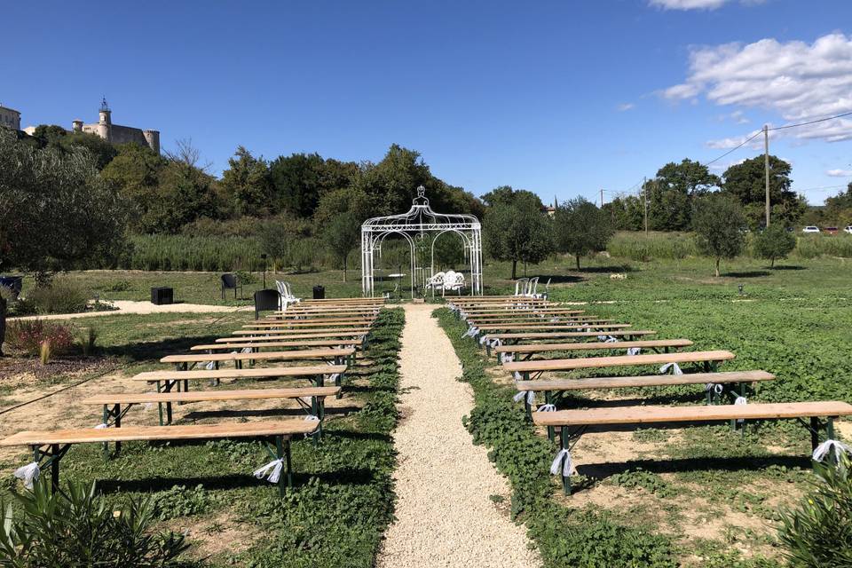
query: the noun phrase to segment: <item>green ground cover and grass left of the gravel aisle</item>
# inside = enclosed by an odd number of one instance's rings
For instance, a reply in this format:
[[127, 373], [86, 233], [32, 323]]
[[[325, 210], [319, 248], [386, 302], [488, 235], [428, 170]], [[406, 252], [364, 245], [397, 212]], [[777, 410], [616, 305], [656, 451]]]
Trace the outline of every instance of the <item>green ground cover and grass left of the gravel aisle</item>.
[[[136, 373], [162, 368], [156, 361], [166, 352], [224, 335], [246, 317], [178, 313], [86, 321], [99, 327], [99, 352]], [[319, 444], [295, 441], [296, 488], [283, 501], [274, 485], [251, 477], [269, 461], [255, 442], [130, 443], [109, 461], [97, 445], [75, 446], [63, 460], [63, 478], [97, 481], [115, 503], [153, 495], [164, 528], [190, 527], [193, 548], [185, 557], [193, 566], [372, 566], [392, 518], [396, 454], [390, 430], [397, 421], [403, 324], [401, 310], [380, 315], [368, 364], [344, 379], [351, 410], [327, 422]], [[26, 461], [21, 452], [0, 468], [9, 472]], [[20, 483], [4, 477], [0, 499], [9, 502], [9, 492], [19, 490]]]

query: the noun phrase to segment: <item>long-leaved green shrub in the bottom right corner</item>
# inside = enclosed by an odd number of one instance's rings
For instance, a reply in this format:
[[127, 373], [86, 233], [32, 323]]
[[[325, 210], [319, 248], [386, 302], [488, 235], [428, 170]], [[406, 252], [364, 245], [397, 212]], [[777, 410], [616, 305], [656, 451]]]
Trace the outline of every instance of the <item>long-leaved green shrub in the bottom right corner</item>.
[[848, 457], [817, 464], [815, 491], [782, 513], [778, 537], [793, 566], [852, 566], [852, 476]]

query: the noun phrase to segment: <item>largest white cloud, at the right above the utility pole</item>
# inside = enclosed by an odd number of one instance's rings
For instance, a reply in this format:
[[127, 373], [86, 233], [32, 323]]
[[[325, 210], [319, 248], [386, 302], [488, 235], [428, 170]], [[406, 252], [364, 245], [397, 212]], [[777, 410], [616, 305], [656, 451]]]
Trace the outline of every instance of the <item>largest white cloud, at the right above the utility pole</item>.
[[[695, 49], [687, 80], [662, 96], [679, 100], [699, 94], [717, 105], [769, 109], [785, 122], [852, 112], [852, 36], [829, 34], [814, 43], [762, 39]], [[848, 140], [852, 120], [819, 122], [785, 135]]]

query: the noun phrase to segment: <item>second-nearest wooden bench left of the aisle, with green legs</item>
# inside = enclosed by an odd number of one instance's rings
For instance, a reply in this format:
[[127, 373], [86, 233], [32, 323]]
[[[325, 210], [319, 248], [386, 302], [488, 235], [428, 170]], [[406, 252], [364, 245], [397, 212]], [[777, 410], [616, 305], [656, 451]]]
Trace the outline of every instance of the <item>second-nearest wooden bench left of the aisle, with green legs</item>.
[[[84, 405], [98, 405], [104, 407], [104, 422], [107, 426], [115, 428], [122, 427], [122, 418], [130, 411], [133, 405], [167, 403], [186, 404], [191, 402], [225, 402], [229, 400], [266, 400], [269, 398], [295, 398], [309, 414], [322, 419], [325, 417], [326, 397], [336, 397], [340, 394], [340, 387], [300, 387], [295, 389], [245, 389], [245, 390], [194, 390], [193, 392], [116, 392], [99, 394], [83, 400]], [[304, 402], [303, 397], [310, 397], [310, 406]], [[123, 409], [122, 409], [122, 406]], [[168, 422], [171, 423], [171, 416]], [[318, 429], [318, 433], [321, 430]], [[116, 444], [115, 449], [121, 448]], [[105, 448], [106, 449], [106, 448]]]

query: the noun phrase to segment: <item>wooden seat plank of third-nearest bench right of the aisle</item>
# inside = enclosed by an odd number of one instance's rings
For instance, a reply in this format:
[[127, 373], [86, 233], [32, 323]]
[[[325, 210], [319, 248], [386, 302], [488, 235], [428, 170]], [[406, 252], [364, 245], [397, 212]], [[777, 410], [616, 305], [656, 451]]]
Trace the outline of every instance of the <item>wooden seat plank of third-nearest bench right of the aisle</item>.
[[730, 351], [680, 351], [676, 353], [651, 353], [647, 355], [619, 355], [616, 357], [584, 357], [578, 359], [535, 359], [503, 363], [507, 371], [530, 373], [538, 371], [569, 371], [572, 369], [624, 367], [636, 365], [665, 365], [667, 363], [696, 363], [728, 361], [735, 355]]

